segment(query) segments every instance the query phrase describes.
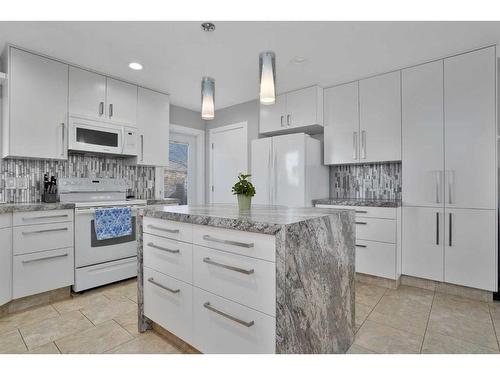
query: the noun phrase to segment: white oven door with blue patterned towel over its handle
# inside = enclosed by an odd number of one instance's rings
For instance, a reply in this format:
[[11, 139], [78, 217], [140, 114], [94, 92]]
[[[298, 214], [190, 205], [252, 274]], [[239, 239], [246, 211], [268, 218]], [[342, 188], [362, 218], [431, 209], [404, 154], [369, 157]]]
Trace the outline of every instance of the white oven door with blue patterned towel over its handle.
[[132, 234], [98, 240], [95, 234], [95, 208], [75, 210], [75, 267], [85, 267], [137, 255], [136, 218], [132, 207]]

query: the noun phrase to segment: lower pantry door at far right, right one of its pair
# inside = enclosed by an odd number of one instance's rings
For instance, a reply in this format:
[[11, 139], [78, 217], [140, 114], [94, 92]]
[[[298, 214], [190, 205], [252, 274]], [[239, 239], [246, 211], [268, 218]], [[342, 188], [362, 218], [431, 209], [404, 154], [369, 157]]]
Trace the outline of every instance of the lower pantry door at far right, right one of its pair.
[[444, 281], [496, 291], [496, 210], [447, 209]]

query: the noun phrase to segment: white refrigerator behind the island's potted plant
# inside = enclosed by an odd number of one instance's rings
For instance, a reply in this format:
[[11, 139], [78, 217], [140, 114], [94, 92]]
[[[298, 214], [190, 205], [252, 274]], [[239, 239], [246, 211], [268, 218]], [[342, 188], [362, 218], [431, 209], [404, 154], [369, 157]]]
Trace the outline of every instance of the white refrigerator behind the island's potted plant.
[[312, 207], [329, 196], [329, 169], [322, 164], [321, 142], [298, 133], [252, 141], [254, 204]]

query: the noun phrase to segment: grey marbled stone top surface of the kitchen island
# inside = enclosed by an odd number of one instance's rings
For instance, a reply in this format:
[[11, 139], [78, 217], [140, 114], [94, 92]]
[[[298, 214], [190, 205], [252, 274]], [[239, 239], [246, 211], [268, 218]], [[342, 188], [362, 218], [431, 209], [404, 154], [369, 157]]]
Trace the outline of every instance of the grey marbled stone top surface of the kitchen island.
[[237, 205], [214, 204], [200, 206], [151, 206], [143, 210], [143, 215], [191, 224], [275, 234], [284, 225], [323, 218], [342, 212], [345, 213], [348, 211], [314, 207], [287, 208], [263, 205], [255, 205], [252, 206], [250, 211], [240, 212]]

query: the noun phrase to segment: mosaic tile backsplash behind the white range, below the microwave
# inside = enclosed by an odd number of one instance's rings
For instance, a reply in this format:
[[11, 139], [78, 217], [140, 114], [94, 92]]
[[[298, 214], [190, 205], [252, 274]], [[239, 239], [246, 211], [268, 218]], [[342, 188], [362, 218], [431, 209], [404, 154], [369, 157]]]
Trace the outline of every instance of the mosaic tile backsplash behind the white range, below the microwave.
[[[126, 159], [70, 154], [68, 160], [4, 159], [0, 161], [0, 200], [8, 203], [39, 202], [43, 175], [61, 177], [125, 178], [127, 195], [138, 199], [154, 198], [154, 167], [129, 165]], [[25, 177], [27, 189], [6, 189], [7, 177]], [[151, 188], [148, 188], [148, 181]]]

